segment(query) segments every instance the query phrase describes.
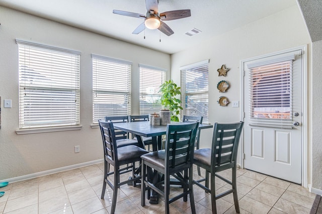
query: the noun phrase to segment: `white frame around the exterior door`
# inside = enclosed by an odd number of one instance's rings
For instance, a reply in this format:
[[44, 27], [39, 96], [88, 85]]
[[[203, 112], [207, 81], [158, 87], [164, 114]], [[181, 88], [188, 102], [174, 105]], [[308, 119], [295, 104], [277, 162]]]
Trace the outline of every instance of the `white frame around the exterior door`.
[[[265, 55], [261, 55], [261, 56], [257, 56], [257, 57], [252, 57], [252, 58], [248, 58], [248, 59], [245, 59], [245, 60], [240, 60], [240, 66], [239, 66], [239, 69], [240, 69], [240, 97], [241, 97], [241, 108], [240, 108], [240, 118], [241, 120], [245, 120], [245, 107], [246, 107], [246, 104], [245, 104], [245, 97], [244, 97], [244, 92], [245, 92], [245, 64], [249, 61], [253, 61], [253, 60], [258, 60], [258, 59], [263, 59], [263, 58], [267, 58], [267, 57], [270, 57], [270, 56], [273, 56], [273, 55], [278, 55], [278, 54], [283, 54], [283, 53], [287, 53], [287, 52], [291, 52], [291, 51], [296, 51], [296, 50], [301, 50], [302, 51], [302, 66], [301, 66], [301, 69], [302, 69], [302, 74], [301, 74], [301, 78], [302, 78], [302, 81], [301, 81], [301, 84], [302, 84], [302, 92], [301, 92], [301, 95], [302, 95], [302, 131], [301, 131], [301, 135], [302, 135], [302, 186], [307, 188], [307, 185], [308, 185], [308, 180], [307, 180], [307, 173], [308, 173], [308, 115], [307, 115], [307, 112], [308, 112], [308, 109], [307, 109], [307, 106], [308, 106], [308, 96], [307, 96], [307, 92], [308, 92], [308, 84], [307, 84], [307, 71], [308, 71], [308, 68], [307, 68], [307, 58], [308, 58], [308, 55], [307, 55], [307, 45], [302, 45], [302, 46], [298, 46], [298, 47], [295, 47], [295, 48], [291, 48], [291, 49], [286, 49], [286, 50], [282, 50], [282, 51], [277, 51], [277, 52], [273, 52], [273, 53], [269, 53], [269, 54], [265, 54]], [[239, 160], [238, 162], [240, 163], [240, 166], [241, 168], [244, 168], [244, 131], [243, 131], [243, 134], [241, 135], [241, 143], [240, 143], [240, 147], [239, 147], [239, 151], [238, 151], [238, 156], [239, 156]]]

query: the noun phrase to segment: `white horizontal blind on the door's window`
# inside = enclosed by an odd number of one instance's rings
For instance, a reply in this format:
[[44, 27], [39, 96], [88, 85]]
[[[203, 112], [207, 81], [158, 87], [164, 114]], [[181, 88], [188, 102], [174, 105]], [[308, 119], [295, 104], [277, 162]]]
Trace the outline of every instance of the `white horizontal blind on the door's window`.
[[292, 60], [252, 67], [251, 118], [291, 119]]

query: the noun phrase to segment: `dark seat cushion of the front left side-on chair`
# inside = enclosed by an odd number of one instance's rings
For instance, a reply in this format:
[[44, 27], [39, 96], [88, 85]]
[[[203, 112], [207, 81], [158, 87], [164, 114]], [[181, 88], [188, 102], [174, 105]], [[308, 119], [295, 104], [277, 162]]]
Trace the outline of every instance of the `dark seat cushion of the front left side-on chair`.
[[129, 146], [123, 146], [120, 148], [117, 148], [117, 155], [118, 155], [118, 160], [121, 161], [126, 161], [126, 160], [133, 160], [137, 159], [140, 160], [141, 155], [148, 153], [148, 151], [134, 145], [129, 145]]

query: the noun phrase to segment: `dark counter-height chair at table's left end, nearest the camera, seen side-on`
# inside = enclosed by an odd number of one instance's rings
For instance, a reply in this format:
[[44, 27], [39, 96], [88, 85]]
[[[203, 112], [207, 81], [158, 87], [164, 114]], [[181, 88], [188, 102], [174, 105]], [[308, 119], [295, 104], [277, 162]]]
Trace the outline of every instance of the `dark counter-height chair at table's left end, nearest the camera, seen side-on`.
[[[140, 156], [148, 153], [148, 151], [135, 145], [117, 147], [116, 145], [118, 142], [115, 136], [113, 122], [104, 122], [99, 120], [99, 124], [104, 147], [104, 181], [101, 198], [104, 198], [106, 184], [108, 184], [113, 189], [110, 213], [114, 213], [118, 188], [123, 184], [127, 184], [128, 182], [133, 182], [133, 186], [136, 185], [135, 181], [139, 180], [141, 176], [135, 174], [135, 162], [140, 161]], [[114, 166], [114, 172], [108, 171], [109, 164]], [[126, 164], [127, 166], [124, 166]], [[120, 181], [120, 175], [128, 172], [129, 169], [132, 171], [131, 179]], [[113, 184], [107, 179], [107, 177], [111, 174], [114, 174]]]

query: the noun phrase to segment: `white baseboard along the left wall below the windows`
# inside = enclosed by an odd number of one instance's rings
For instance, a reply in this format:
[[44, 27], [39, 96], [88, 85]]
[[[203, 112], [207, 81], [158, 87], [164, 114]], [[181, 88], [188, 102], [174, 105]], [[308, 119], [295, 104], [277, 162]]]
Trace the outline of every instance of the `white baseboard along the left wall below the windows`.
[[23, 175], [23, 176], [13, 177], [13, 178], [5, 179], [5, 180], [0, 180], [0, 182], [8, 181], [9, 183], [13, 183], [13, 182], [27, 180], [27, 179], [31, 179], [31, 178], [36, 178], [36, 177], [40, 177], [40, 176], [44, 176], [44, 175], [48, 175], [48, 174], [54, 174], [54, 173], [57, 173], [57, 172], [62, 172], [62, 171], [70, 170], [70, 169], [75, 169], [75, 168], [79, 168], [79, 167], [84, 167], [84, 166], [89, 166], [89, 165], [93, 165], [93, 164], [102, 163], [103, 160], [104, 159], [98, 159], [98, 160], [93, 160], [93, 161], [89, 161], [89, 162], [84, 162], [84, 163], [78, 163], [78, 164], [74, 164], [74, 165], [64, 166], [64, 167], [60, 167], [60, 168], [56, 168], [56, 169], [50, 169], [50, 170], [36, 172], [36, 173], [32, 173], [32, 174], [26, 174], [26, 175]]

